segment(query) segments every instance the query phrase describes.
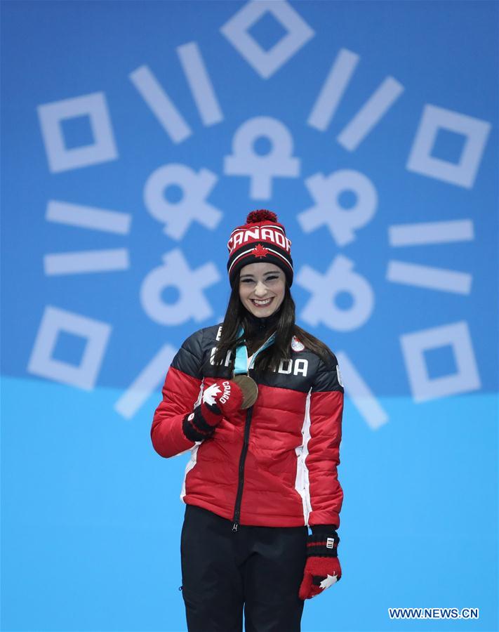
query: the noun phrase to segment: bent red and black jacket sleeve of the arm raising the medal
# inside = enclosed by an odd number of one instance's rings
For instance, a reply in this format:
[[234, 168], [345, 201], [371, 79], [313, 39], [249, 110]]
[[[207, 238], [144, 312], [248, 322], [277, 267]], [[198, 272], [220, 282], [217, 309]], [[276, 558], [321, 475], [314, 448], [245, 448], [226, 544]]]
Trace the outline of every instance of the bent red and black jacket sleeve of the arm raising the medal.
[[185, 416], [199, 401], [202, 383], [203, 329], [184, 341], [173, 358], [163, 386], [163, 399], [152, 420], [151, 440], [161, 456], [175, 456], [191, 449], [195, 442], [182, 430]]

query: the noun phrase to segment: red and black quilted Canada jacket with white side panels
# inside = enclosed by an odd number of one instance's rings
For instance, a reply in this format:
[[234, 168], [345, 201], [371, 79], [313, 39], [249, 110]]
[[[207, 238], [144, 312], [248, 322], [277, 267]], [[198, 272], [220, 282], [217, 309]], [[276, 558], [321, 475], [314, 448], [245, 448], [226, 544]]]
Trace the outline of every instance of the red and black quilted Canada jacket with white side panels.
[[231, 353], [213, 364], [221, 326], [196, 331], [168, 369], [154, 412], [152, 445], [161, 456], [190, 450], [180, 498], [241, 525], [336, 525], [343, 387], [335, 356], [326, 364], [293, 338], [291, 360], [249, 375], [258, 383], [252, 407], [222, 419], [208, 439], [182, 430], [204, 388], [231, 378]]

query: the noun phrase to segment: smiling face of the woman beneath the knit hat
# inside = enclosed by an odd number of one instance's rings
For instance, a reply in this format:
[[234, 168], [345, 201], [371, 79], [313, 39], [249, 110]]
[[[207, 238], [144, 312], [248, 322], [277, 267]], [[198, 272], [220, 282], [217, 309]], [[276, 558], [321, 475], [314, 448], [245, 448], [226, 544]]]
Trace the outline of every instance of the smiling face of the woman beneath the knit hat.
[[286, 279], [274, 263], [248, 263], [239, 274], [239, 298], [258, 317], [270, 316], [284, 301]]

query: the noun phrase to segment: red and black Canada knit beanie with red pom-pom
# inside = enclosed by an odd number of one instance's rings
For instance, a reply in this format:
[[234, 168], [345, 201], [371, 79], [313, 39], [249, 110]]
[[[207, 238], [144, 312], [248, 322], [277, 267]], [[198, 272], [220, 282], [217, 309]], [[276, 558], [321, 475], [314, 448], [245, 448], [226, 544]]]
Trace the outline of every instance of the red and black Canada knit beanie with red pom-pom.
[[231, 232], [227, 248], [227, 272], [231, 286], [238, 270], [244, 265], [263, 262], [279, 265], [286, 275], [288, 286], [291, 287], [291, 240], [286, 237], [284, 226], [277, 221], [277, 215], [272, 211], [251, 211], [246, 218], [246, 224], [234, 228]]

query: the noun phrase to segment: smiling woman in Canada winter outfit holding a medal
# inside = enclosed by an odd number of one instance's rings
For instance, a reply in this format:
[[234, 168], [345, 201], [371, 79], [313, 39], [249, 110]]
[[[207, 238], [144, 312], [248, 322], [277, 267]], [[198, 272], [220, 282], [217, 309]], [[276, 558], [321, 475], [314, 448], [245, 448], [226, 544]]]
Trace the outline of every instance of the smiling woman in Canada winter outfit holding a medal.
[[[191, 451], [181, 499], [189, 632], [300, 630], [304, 600], [341, 577], [335, 355], [295, 324], [291, 242], [271, 211], [232, 231], [225, 319], [171, 363], [151, 437]], [[308, 528], [312, 534], [308, 534]]]

